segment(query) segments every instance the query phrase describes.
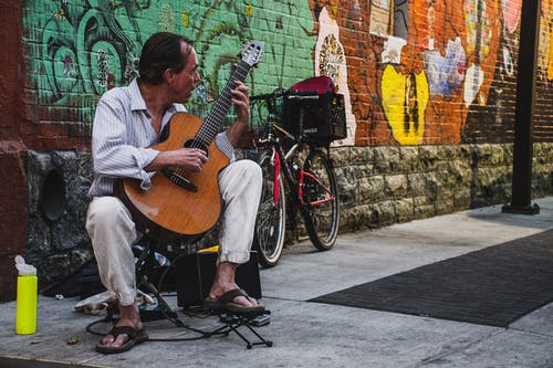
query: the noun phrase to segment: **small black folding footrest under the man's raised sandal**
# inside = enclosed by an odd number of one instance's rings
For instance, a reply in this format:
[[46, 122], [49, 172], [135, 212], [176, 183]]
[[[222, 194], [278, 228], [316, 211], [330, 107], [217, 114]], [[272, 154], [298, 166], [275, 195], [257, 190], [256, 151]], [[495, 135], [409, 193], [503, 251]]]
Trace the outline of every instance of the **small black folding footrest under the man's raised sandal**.
[[[262, 311], [260, 313], [236, 313], [228, 312], [223, 309], [212, 311], [217, 316], [219, 316], [219, 320], [225, 325], [212, 330], [209, 335], [225, 335], [228, 336], [230, 332], [237, 334], [244, 343], [248, 349], [251, 349], [257, 345], [264, 345], [267, 347], [272, 347], [273, 341], [265, 340], [260, 334], [258, 334], [251, 326], [254, 324], [255, 318], [260, 316], [268, 316], [271, 314], [270, 311]], [[250, 341], [243, 334], [241, 334], [238, 329], [240, 327], [248, 328], [257, 338], [258, 341]]]

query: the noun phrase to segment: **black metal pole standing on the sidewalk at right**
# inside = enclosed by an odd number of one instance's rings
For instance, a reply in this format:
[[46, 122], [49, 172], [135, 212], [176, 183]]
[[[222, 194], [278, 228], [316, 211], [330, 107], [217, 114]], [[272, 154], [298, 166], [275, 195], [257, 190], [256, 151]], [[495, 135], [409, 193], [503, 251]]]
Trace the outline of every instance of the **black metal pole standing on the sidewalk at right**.
[[523, 0], [517, 73], [512, 194], [511, 203], [503, 206], [503, 212], [540, 213], [538, 204], [530, 204], [532, 200], [532, 135], [539, 29], [540, 0]]

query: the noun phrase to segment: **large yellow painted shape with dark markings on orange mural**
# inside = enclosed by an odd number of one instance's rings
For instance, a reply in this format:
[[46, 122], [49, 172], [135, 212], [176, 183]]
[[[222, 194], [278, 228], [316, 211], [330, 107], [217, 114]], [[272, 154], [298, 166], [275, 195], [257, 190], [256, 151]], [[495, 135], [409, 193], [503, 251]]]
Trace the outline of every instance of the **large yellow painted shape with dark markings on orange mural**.
[[[382, 77], [383, 107], [394, 138], [400, 145], [420, 145], [425, 135], [425, 113], [429, 97], [428, 81], [424, 71], [415, 74], [418, 126], [413, 122], [413, 114], [409, 114], [409, 124], [406, 129], [405, 105], [415, 103], [413, 97], [407, 96], [408, 80], [409, 75], [396, 72], [392, 65], [386, 66]], [[409, 111], [408, 107], [407, 111]]]

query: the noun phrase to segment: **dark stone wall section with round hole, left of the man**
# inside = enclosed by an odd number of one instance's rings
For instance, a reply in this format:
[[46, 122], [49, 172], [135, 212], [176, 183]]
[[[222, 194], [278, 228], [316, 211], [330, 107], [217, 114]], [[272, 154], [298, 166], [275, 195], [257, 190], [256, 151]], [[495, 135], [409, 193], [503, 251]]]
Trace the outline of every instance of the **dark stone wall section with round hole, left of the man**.
[[40, 287], [75, 272], [93, 256], [85, 230], [90, 151], [28, 151], [27, 261], [38, 267]]

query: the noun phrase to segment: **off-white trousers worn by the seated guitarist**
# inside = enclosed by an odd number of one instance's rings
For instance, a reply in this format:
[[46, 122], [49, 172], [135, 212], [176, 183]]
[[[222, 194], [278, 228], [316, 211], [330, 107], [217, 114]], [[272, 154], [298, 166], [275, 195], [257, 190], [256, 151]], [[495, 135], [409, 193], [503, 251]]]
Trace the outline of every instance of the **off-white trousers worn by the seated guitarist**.
[[[261, 168], [251, 160], [238, 160], [227, 166], [218, 179], [223, 202], [218, 262], [246, 263], [261, 197]], [[88, 206], [86, 230], [102, 283], [121, 305], [133, 304], [136, 277], [132, 246], [139, 234], [131, 212], [116, 197], [95, 197]]]

